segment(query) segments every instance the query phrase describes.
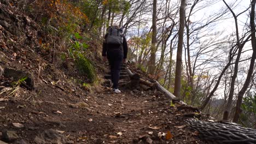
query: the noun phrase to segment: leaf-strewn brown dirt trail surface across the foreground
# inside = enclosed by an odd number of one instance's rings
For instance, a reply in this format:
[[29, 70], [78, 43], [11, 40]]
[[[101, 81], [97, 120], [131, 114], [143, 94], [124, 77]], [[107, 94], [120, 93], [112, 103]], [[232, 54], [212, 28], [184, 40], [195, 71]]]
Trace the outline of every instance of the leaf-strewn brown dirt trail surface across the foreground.
[[[46, 83], [46, 82], [44, 82]], [[65, 88], [41, 87], [28, 100], [0, 102], [2, 141], [8, 143], [205, 143], [183, 120], [191, 110], [170, 106], [158, 91], [121, 87], [114, 94], [70, 95]], [[63, 83], [65, 85], [65, 83]], [[51, 87], [50, 87], [51, 86]], [[1, 142], [0, 142], [1, 143]]]

